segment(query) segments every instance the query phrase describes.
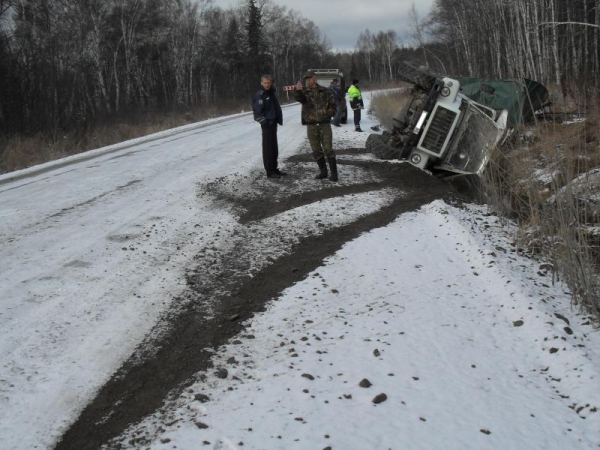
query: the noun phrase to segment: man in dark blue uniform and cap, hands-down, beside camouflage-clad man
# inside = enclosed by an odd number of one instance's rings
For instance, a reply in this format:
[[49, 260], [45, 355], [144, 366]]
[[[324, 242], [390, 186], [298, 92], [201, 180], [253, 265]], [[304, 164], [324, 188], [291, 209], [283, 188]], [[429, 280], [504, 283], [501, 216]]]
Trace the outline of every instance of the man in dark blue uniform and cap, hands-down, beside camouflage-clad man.
[[262, 89], [254, 94], [252, 99], [252, 111], [254, 120], [260, 123], [262, 128], [263, 164], [267, 178], [281, 178], [283, 175], [287, 175], [277, 167], [277, 158], [279, 157], [277, 125], [283, 125], [283, 113], [275, 94], [271, 75], [263, 75], [260, 78], [260, 85]]

